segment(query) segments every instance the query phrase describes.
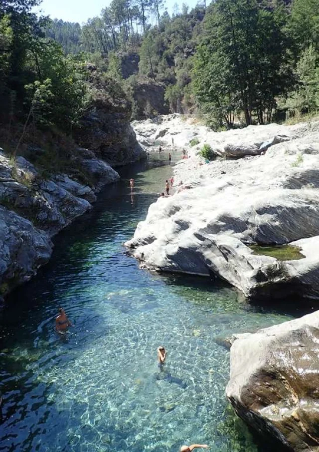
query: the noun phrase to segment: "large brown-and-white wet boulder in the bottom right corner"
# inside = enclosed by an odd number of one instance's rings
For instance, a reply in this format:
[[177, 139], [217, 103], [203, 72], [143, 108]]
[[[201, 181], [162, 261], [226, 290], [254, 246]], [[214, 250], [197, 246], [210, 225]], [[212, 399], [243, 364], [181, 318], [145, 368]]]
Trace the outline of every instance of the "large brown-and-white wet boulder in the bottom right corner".
[[233, 338], [226, 395], [258, 433], [319, 450], [319, 312]]

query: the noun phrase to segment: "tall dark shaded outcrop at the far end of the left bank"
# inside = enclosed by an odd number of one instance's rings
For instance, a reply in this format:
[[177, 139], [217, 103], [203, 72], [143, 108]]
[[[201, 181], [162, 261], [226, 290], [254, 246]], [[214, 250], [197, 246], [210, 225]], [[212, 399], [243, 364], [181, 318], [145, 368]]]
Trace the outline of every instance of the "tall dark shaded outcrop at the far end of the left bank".
[[93, 105], [74, 130], [76, 142], [111, 166], [146, 158], [130, 125], [131, 104], [121, 87], [97, 72], [91, 74], [90, 84]]

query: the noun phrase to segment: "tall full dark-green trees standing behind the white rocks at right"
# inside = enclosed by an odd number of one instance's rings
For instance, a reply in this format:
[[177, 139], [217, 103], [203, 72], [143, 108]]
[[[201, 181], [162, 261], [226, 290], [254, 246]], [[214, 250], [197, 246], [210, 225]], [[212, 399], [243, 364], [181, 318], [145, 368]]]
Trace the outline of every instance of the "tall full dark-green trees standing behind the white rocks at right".
[[242, 112], [247, 125], [269, 122], [276, 97], [287, 91], [288, 11], [257, 0], [217, 0], [205, 18], [195, 57], [193, 89], [217, 123], [231, 127]]

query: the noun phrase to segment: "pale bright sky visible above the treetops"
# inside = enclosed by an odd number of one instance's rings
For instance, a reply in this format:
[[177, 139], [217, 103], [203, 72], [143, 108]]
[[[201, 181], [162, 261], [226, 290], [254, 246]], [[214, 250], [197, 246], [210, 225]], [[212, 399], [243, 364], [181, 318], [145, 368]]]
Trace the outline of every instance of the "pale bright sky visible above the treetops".
[[[198, 0], [184, 0], [190, 8], [196, 5]], [[68, 22], [86, 22], [88, 18], [100, 15], [103, 8], [108, 6], [111, 0], [42, 0], [40, 6], [34, 9], [43, 15], [49, 15], [52, 19], [62, 19]], [[183, 0], [166, 0], [165, 7], [169, 14], [174, 3], [180, 6]]]

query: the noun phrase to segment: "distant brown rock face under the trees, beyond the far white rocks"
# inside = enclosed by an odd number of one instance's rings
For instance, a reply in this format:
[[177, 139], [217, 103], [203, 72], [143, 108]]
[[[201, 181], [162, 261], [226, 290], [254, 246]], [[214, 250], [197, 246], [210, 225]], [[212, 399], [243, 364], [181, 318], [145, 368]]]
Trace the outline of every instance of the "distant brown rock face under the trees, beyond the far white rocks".
[[169, 107], [164, 100], [165, 86], [154, 80], [138, 82], [133, 97], [137, 104], [136, 116], [147, 118], [157, 114], [168, 114]]

